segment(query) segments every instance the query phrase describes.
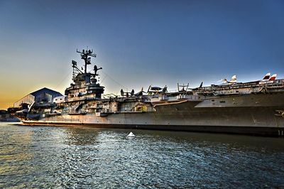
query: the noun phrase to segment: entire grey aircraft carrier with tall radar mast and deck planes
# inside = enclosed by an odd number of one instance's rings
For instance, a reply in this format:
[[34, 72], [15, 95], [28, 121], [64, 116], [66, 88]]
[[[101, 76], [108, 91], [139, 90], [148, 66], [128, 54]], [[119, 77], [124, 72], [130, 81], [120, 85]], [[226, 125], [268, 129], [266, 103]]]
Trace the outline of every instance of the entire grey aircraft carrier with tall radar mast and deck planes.
[[84, 68], [72, 60], [73, 82], [65, 96], [53, 102], [23, 104], [16, 116], [23, 125], [94, 126], [121, 129], [206, 131], [230, 134], [284, 136], [284, 80], [268, 73], [263, 80], [236, 82], [189, 89], [178, 85], [148, 91], [103, 95], [97, 80], [102, 68], [91, 65], [93, 50], [78, 51]]

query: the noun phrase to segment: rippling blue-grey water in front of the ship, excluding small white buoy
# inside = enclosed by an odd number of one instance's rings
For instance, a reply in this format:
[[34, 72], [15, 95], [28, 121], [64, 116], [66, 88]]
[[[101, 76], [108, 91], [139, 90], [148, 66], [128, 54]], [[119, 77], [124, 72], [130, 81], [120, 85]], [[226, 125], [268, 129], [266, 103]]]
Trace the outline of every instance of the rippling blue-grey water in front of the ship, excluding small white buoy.
[[0, 188], [284, 187], [284, 139], [0, 124]]

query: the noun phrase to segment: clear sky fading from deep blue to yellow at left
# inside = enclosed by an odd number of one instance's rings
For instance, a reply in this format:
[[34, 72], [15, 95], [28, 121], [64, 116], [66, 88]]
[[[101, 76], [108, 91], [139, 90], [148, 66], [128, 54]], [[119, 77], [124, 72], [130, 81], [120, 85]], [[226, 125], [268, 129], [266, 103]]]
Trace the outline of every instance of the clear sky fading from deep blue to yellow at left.
[[105, 93], [283, 78], [284, 1], [0, 0], [0, 109], [42, 87], [64, 93], [87, 47]]

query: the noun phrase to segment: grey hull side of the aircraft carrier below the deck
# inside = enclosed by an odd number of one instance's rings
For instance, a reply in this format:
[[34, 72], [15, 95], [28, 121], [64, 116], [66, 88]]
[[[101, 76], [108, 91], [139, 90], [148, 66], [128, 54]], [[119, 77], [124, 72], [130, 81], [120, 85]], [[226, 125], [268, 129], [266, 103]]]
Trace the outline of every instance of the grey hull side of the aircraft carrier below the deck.
[[218, 100], [211, 98], [201, 103], [157, 104], [155, 112], [116, 112], [104, 116], [61, 114], [38, 121], [23, 120], [23, 124], [283, 136], [284, 118], [277, 111], [284, 109], [284, 103], [279, 99], [284, 99], [284, 95], [218, 97]]

